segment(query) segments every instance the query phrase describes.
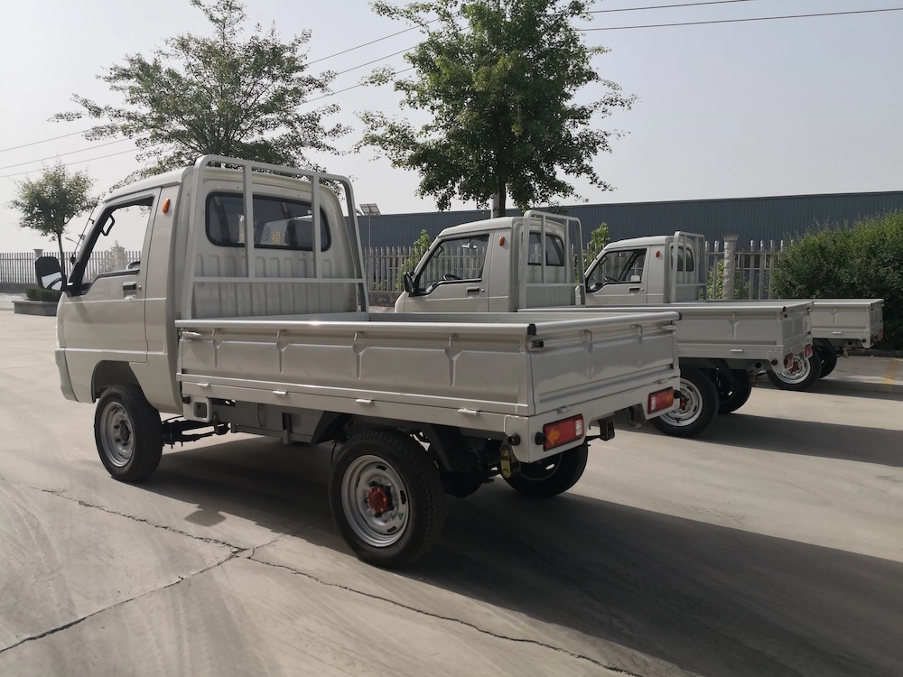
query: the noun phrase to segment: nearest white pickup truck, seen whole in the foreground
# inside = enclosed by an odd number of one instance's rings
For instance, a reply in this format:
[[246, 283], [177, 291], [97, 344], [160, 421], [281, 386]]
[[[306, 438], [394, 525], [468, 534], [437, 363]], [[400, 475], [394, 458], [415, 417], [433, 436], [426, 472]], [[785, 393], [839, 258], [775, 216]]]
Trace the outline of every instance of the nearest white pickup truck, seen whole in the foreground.
[[[560, 494], [591, 424], [609, 439], [613, 413], [673, 408], [677, 312], [371, 315], [343, 202], [343, 177], [206, 156], [113, 192], [68, 280], [38, 260], [42, 285], [64, 292], [62, 392], [97, 403], [114, 478], [150, 476], [164, 443], [228, 431], [337, 441], [339, 531], [362, 560], [398, 567], [438, 539], [443, 490], [501, 474]], [[144, 234], [141, 260], [86, 274], [127, 228]]]

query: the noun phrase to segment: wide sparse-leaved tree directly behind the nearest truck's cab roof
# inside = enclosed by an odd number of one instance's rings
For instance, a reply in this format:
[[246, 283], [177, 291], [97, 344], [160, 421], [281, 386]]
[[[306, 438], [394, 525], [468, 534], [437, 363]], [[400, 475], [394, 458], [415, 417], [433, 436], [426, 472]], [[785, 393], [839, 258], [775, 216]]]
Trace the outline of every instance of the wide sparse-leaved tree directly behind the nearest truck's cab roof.
[[133, 139], [147, 166], [129, 179], [183, 167], [207, 153], [310, 166], [303, 149], [334, 151], [330, 141], [348, 129], [324, 120], [339, 107], [301, 109], [313, 93], [328, 93], [335, 77], [309, 74], [304, 46], [311, 32], [282, 42], [274, 26], [264, 31], [257, 25], [245, 38], [245, 9], [237, 0], [190, 2], [207, 17], [211, 36], [183, 33], [150, 58], [127, 55], [99, 76], [122, 96], [121, 106], [75, 96], [81, 110], [55, 118], [103, 121], [88, 139]]

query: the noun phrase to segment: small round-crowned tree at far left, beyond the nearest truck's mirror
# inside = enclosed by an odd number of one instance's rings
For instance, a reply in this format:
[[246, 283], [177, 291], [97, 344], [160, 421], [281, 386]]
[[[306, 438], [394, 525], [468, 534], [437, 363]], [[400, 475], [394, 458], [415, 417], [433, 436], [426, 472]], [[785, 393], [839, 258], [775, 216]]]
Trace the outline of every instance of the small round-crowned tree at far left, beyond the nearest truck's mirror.
[[94, 181], [86, 172], [70, 173], [66, 165], [58, 163], [42, 172], [37, 179], [26, 179], [16, 185], [16, 197], [11, 209], [22, 214], [19, 226], [33, 228], [44, 236], [55, 238], [60, 248], [60, 264], [65, 271], [62, 236], [72, 218], [94, 209], [98, 199], [93, 197]]

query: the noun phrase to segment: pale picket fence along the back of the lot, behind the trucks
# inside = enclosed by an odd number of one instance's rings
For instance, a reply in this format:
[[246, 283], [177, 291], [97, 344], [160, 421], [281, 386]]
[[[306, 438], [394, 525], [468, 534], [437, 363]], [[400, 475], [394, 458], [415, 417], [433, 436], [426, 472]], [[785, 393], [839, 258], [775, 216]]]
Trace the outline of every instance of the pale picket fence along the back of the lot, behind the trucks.
[[[740, 245], [740, 243], [739, 243]], [[750, 242], [742, 243], [744, 248], [736, 252], [736, 274], [734, 279], [734, 297], [738, 299], [770, 299], [772, 298], [771, 271], [774, 262], [784, 249], [784, 242]], [[364, 249], [364, 273], [371, 292], [402, 291], [401, 276], [407, 262], [414, 253], [409, 246], [371, 247]], [[54, 253], [48, 250], [48, 255]], [[68, 261], [72, 254], [66, 253]], [[132, 261], [141, 258], [141, 252], [126, 249], [110, 249], [100, 252], [88, 262], [87, 279], [112, 270], [122, 270]], [[14, 254], [0, 253], [0, 284], [35, 284], [34, 252]], [[706, 281], [708, 295], [721, 298], [724, 249], [719, 241], [705, 244], [705, 255], [702, 259], [706, 265]], [[589, 263], [589, 259], [584, 257]], [[472, 266], [469, 266], [472, 267]], [[441, 271], [440, 271], [441, 272]]]

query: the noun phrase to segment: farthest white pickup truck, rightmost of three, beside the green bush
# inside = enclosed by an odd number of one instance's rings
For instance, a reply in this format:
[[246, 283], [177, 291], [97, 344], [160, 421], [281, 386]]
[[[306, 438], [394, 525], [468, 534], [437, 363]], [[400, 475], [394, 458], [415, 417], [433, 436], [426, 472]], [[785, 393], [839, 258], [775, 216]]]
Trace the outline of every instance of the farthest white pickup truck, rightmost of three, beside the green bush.
[[[666, 255], [675, 251], [678, 255]], [[675, 301], [703, 299], [708, 290], [705, 240], [694, 233], [637, 237], [605, 246], [586, 269], [586, 302], [621, 310], [656, 308]], [[815, 354], [798, 360], [785, 373], [768, 372], [772, 383], [786, 390], [806, 390], [830, 374], [839, 355], [850, 348], [870, 348], [884, 335], [882, 299], [804, 299], [813, 304]], [[774, 301], [721, 301], [756, 306]], [[777, 301], [787, 303], [793, 301]]]

